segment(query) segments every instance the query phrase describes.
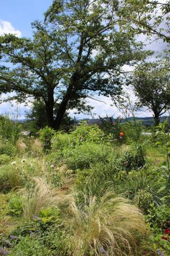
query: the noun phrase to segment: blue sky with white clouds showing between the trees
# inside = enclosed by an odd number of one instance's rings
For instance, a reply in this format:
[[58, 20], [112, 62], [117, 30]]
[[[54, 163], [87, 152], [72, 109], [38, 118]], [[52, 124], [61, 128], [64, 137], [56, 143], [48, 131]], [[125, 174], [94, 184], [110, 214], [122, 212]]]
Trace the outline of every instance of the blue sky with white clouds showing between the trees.
[[[0, 35], [4, 33], [14, 33], [18, 36], [31, 37], [32, 36], [32, 28], [31, 23], [36, 20], [42, 20], [43, 14], [51, 5], [53, 0], [1, 0], [0, 6]], [[145, 42], [145, 36], [141, 35], [139, 40], [143, 40]], [[147, 42], [146, 49], [152, 49], [155, 51], [162, 51], [165, 47], [165, 44], [159, 40], [154, 41], [152, 44]], [[124, 67], [126, 71], [129, 71], [129, 67]], [[128, 89], [129, 90], [129, 89]], [[129, 94], [131, 95], [131, 100], [136, 100], [134, 94], [129, 90]], [[3, 95], [0, 99], [4, 97]], [[111, 98], [106, 97], [96, 97], [100, 101], [104, 101], [105, 103], [89, 100], [89, 103], [94, 106], [94, 115], [97, 116], [105, 116], [114, 115], [117, 117], [120, 115], [120, 112], [116, 109], [116, 107], [111, 106], [112, 101]], [[25, 110], [29, 110], [29, 106], [25, 107], [24, 104], [19, 106], [20, 118], [24, 118]], [[3, 102], [0, 104], [0, 114], [15, 112], [16, 104], [12, 102], [12, 106], [10, 103]], [[75, 110], [70, 112], [71, 117], [74, 117]], [[146, 117], [151, 116], [152, 113], [142, 111], [138, 114], [139, 116]], [[78, 118], [86, 118], [90, 117], [84, 114], [75, 115]]]

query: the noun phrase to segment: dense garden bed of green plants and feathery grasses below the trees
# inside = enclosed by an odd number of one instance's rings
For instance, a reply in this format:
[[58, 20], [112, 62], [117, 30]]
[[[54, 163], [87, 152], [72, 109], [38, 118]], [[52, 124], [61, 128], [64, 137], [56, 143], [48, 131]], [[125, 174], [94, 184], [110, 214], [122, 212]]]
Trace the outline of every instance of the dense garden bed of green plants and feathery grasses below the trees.
[[29, 138], [2, 119], [0, 255], [170, 254], [168, 123]]

